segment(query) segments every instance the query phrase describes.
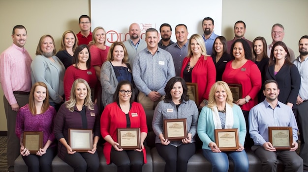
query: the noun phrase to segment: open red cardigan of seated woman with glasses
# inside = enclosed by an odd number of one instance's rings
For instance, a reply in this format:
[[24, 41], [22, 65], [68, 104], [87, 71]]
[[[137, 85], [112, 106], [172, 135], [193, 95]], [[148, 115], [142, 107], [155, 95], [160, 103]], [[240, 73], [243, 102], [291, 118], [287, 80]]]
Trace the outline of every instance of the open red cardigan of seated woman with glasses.
[[[132, 117], [132, 113], [137, 116]], [[140, 133], [148, 133], [146, 113], [140, 103], [133, 102], [131, 109], [128, 112], [131, 128], [140, 128]], [[100, 133], [103, 138], [110, 135], [115, 142], [118, 142], [117, 128], [126, 128], [126, 118], [122, 109], [118, 106], [117, 102], [108, 104], [101, 117], [100, 117]], [[104, 155], [106, 163], [110, 164], [110, 152], [112, 145], [108, 142], [104, 144]], [[142, 150], [144, 163], [147, 163], [146, 149]]]

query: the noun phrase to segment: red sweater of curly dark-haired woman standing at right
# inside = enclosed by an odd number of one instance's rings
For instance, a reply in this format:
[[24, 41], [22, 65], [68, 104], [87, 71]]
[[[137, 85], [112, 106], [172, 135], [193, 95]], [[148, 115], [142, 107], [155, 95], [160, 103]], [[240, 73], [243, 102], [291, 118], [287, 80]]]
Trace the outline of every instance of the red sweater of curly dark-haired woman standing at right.
[[222, 74], [222, 80], [228, 84], [242, 85], [242, 98], [250, 96], [248, 103], [241, 106], [242, 110], [249, 111], [258, 103], [257, 94], [261, 89], [261, 73], [258, 66], [251, 60], [248, 60], [242, 67], [238, 69], [232, 68], [232, 61], [226, 64], [226, 68]]

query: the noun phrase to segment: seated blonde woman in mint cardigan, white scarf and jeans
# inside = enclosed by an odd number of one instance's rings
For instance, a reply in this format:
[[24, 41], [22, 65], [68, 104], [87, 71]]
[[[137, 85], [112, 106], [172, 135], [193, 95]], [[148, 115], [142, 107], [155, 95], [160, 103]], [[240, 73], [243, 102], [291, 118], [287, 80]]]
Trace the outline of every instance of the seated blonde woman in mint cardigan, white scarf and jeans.
[[[202, 153], [212, 164], [212, 172], [227, 172], [229, 158], [234, 172], [248, 172], [248, 158], [244, 150], [246, 123], [240, 106], [232, 103], [232, 93], [227, 83], [217, 81], [211, 88], [209, 104], [202, 108], [198, 120], [198, 136]], [[238, 128], [240, 147], [236, 151], [221, 151], [215, 143], [215, 129]]]

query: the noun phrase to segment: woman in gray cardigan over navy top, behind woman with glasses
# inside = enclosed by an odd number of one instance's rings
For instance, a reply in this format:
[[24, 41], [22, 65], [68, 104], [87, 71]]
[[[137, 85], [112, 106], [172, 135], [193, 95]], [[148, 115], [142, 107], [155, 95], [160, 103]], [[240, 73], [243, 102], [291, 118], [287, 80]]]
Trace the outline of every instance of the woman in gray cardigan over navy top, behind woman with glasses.
[[128, 63], [128, 53], [123, 42], [114, 42], [109, 49], [107, 61], [100, 71], [102, 89], [102, 102], [106, 106], [113, 102], [113, 94], [118, 83], [128, 80], [133, 84], [132, 71]]

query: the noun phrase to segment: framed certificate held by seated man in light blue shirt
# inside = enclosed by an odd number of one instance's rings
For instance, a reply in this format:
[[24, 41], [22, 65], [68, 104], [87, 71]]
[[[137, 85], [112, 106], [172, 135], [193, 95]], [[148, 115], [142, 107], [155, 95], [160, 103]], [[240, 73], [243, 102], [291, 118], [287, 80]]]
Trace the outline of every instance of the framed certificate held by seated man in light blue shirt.
[[272, 143], [273, 147], [277, 150], [289, 150], [293, 142], [292, 127], [277, 127], [269, 126], [269, 142]]

